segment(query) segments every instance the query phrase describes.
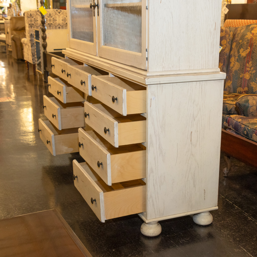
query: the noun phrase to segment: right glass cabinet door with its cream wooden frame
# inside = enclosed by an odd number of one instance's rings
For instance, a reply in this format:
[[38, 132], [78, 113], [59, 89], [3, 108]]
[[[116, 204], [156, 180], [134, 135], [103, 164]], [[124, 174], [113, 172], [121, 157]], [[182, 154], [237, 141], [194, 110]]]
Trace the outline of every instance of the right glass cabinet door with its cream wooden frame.
[[146, 69], [146, 11], [146, 0], [101, 0], [99, 56]]

